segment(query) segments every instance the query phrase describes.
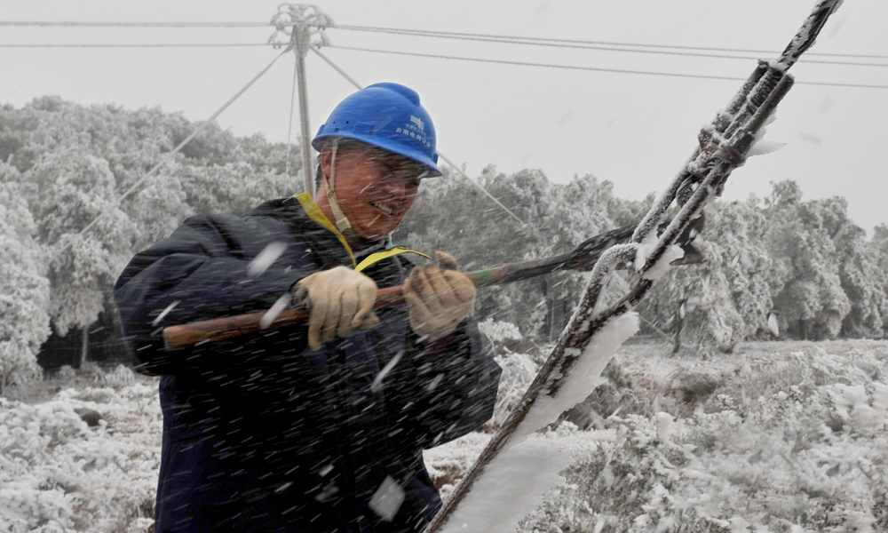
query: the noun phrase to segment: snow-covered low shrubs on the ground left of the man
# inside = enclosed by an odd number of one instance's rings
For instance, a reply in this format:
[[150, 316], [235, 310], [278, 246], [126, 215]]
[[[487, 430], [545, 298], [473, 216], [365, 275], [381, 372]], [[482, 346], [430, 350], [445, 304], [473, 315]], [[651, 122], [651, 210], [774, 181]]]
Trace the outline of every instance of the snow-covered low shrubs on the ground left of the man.
[[[87, 426], [84, 408], [104, 419]], [[160, 416], [144, 383], [66, 389], [36, 405], [0, 398], [0, 531], [146, 531]]]

